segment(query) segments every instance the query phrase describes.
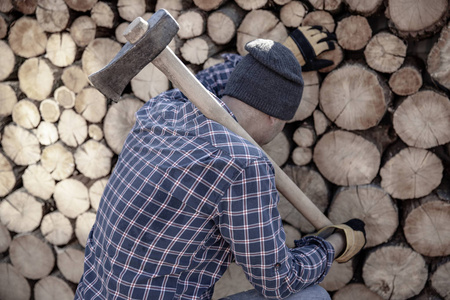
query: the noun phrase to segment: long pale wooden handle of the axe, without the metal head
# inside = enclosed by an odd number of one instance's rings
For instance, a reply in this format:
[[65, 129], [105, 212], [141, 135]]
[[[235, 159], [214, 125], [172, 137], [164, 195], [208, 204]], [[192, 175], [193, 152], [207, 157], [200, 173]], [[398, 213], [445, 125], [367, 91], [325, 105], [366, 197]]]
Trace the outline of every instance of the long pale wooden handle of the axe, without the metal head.
[[[174, 86], [179, 88], [206, 117], [222, 124], [259, 147], [239, 123], [236, 122], [222, 106], [220, 106], [217, 100], [188, 70], [170, 48], [166, 47], [152, 63], [161, 70], [167, 78], [172, 81]], [[267, 157], [269, 156], [267, 155]], [[316, 229], [332, 225], [331, 221], [317, 208], [317, 206], [314, 205], [314, 203], [311, 202], [289, 176], [287, 176], [270, 157], [269, 159], [275, 168], [275, 182], [277, 189], [284, 197], [286, 197], [286, 199], [289, 200], [289, 202], [291, 202]]]

